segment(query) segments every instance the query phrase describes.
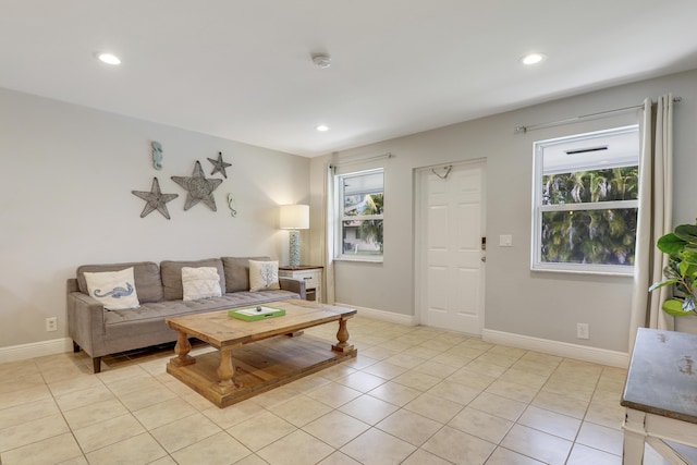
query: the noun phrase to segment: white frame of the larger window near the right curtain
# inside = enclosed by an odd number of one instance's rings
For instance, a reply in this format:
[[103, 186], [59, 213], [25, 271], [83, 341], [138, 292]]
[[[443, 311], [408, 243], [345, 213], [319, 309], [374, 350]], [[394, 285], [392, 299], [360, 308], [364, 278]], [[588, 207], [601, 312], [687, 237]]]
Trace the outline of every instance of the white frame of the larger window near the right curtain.
[[[530, 254], [530, 270], [533, 271], [555, 271], [566, 273], [589, 273], [589, 274], [610, 274], [610, 276], [633, 276], [634, 266], [632, 265], [597, 265], [597, 264], [563, 264], [542, 261], [542, 213], [549, 211], [575, 211], [575, 210], [602, 210], [602, 209], [624, 209], [638, 208], [639, 200], [613, 200], [597, 201], [585, 204], [565, 204], [565, 205], [542, 205], [542, 176], [543, 176], [543, 151], [545, 148], [585, 139], [597, 139], [602, 136], [610, 136], [623, 133], [638, 134], [638, 124], [629, 126], [614, 127], [610, 130], [595, 131], [591, 133], [576, 134], [552, 139], [538, 140], [533, 145], [533, 240]], [[619, 167], [628, 167], [634, 164], [617, 164]], [[638, 166], [638, 157], [637, 157]], [[597, 164], [589, 167], [580, 167], [584, 171], [592, 169], [601, 169], [607, 164]], [[635, 237], [636, 243], [636, 237]]]

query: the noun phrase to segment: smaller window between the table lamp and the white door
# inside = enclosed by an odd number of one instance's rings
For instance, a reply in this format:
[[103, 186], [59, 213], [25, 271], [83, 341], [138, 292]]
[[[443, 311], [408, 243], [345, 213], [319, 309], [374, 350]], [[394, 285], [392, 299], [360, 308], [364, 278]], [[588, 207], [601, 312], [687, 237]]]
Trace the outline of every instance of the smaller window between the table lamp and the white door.
[[335, 178], [339, 205], [337, 258], [381, 261], [384, 212], [383, 170]]

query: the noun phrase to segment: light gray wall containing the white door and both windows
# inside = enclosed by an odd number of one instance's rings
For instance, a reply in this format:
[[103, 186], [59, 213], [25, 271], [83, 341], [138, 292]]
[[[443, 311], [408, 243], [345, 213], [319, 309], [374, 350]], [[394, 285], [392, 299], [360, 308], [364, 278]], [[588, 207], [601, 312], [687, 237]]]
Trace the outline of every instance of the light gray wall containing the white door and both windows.
[[[334, 155], [340, 161], [384, 152], [395, 155], [381, 163], [386, 168], [384, 262], [337, 262], [337, 301], [414, 315], [414, 170], [485, 158], [486, 233], [490, 244], [486, 264], [485, 328], [626, 352], [631, 278], [529, 270], [531, 155], [535, 140], [624, 125], [636, 121], [636, 115], [623, 114], [518, 135], [514, 134], [514, 127], [637, 106], [646, 97], [656, 100], [668, 93], [683, 98], [674, 113], [674, 222], [693, 222], [697, 216], [694, 203], [697, 184], [693, 181], [697, 173], [697, 71], [551, 101]], [[329, 158], [311, 160], [314, 218], [321, 215], [323, 167]], [[318, 237], [319, 225], [314, 222], [313, 228], [313, 236]], [[500, 234], [512, 234], [513, 247], [498, 247]], [[313, 250], [311, 259], [321, 259], [319, 249]], [[576, 322], [590, 325], [590, 340], [576, 339]]]

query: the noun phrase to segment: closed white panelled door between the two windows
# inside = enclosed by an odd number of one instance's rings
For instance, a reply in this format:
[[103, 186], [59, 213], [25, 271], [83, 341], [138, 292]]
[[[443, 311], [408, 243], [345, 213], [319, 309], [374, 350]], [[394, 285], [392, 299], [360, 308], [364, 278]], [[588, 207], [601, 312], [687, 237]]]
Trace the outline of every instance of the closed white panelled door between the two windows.
[[421, 325], [481, 334], [485, 169], [480, 161], [419, 171]]

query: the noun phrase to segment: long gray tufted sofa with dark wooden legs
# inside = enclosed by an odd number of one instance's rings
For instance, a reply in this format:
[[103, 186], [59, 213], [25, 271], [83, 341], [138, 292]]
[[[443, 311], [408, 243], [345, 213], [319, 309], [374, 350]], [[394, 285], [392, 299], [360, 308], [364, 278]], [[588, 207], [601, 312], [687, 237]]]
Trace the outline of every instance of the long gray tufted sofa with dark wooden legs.
[[[285, 298], [305, 298], [305, 283], [280, 278], [279, 290], [249, 292], [249, 260], [269, 257], [222, 257], [196, 261], [139, 261], [85, 265], [76, 278], [68, 280], [68, 331], [75, 352], [83, 348], [91, 358], [95, 372], [101, 357], [123, 351], [176, 341], [167, 318], [227, 308], [259, 305]], [[87, 290], [85, 272], [120, 271], [133, 267], [140, 306], [108, 310]], [[222, 296], [183, 301], [182, 268], [216, 267]]]

